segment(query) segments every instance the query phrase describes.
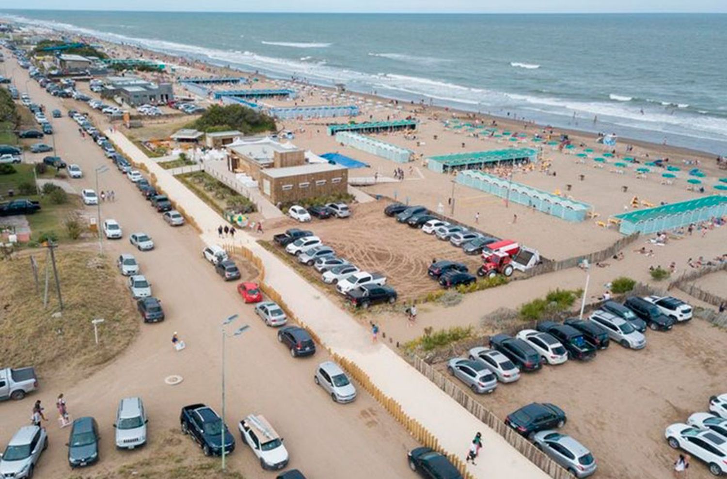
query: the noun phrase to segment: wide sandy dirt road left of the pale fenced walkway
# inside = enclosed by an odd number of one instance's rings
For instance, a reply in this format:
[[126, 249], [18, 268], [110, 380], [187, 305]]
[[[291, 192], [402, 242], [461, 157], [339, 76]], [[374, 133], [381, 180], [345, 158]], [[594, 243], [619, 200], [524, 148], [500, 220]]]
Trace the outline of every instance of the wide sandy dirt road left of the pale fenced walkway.
[[[7, 63], [15, 63], [11, 55]], [[27, 72], [16, 68], [15, 84], [24, 89]], [[33, 101], [47, 110], [65, 110], [57, 97], [41, 91], [35, 81], [28, 83]], [[110, 165], [89, 138], [81, 140], [70, 118], [54, 122], [56, 145], [67, 163], [76, 163], [86, 176], [72, 180], [76, 190], [93, 188], [95, 166]], [[317, 478], [407, 478], [414, 477], [406, 465], [406, 450], [416, 446], [403, 428], [365, 393], [356, 403], [332, 403], [313, 385], [313, 370], [326, 358], [319, 351], [313, 358], [294, 360], [268, 329], [244, 305], [234, 283], [223, 283], [212, 267], [201, 258], [202, 244], [187, 226], [170, 228], [153, 212], [136, 188], [118, 170], [100, 177], [100, 189], [113, 189], [115, 203], [102, 205], [104, 218], [118, 220], [127, 236], [142, 230], [153, 237], [157, 248], [132, 251], [126, 238], [104, 241], [110, 255], [134, 252], [142, 273], [153, 284], [153, 293], [164, 301], [164, 323], [142, 325], [140, 337], [113, 363], [88, 379], [71, 385], [63, 377], [43, 378], [41, 390], [23, 401], [0, 404], [0, 444], [20, 425], [26, 424], [33, 400], [41, 399], [50, 413], [57, 393], [65, 393], [73, 416], [92, 415], [100, 422], [101, 461], [95, 470], [116, 469], [128, 454], [113, 448], [113, 414], [119, 398], [141, 395], [150, 414], [150, 440], [156, 432], [177, 427], [180, 407], [205, 402], [220, 411], [220, 321], [239, 313], [238, 325], [248, 323], [249, 331], [228, 342], [227, 421], [236, 422], [251, 412], [262, 413], [284, 436], [291, 453], [291, 467]], [[59, 254], [63, 254], [60, 249]], [[103, 294], [103, 291], [89, 291]], [[169, 343], [178, 331], [187, 349], [174, 353]], [[100, 329], [103, 340], [103, 326]], [[42, 374], [43, 371], [41, 371]], [[176, 387], [164, 385], [164, 377], [181, 374], [184, 382]], [[68, 430], [60, 431], [49, 423], [51, 446], [36, 471], [41, 478], [67, 477], [63, 447]], [[238, 437], [238, 434], [236, 433]], [[240, 446], [238, 440], [238, 446]], [[201, 452], [199, 453], [201, 454]], [[257, 461], [246, 448], [230, 456], [230, 467], [247, 477], [262, 477]], [[90, 472], [90, 471], [89, 471]]]

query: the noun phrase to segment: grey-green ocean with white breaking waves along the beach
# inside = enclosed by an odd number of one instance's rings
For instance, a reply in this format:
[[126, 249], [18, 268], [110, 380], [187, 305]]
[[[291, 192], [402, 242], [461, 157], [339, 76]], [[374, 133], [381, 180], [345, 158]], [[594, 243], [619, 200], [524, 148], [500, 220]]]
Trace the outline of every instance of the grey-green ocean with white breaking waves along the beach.
[[727, 154], [727, 15], [7, 14], [278, 78]]

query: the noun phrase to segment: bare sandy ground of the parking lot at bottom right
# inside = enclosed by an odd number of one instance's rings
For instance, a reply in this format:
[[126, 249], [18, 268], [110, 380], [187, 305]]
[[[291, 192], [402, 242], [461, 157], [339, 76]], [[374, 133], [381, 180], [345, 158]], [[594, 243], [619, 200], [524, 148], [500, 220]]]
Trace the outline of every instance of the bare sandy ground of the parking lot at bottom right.
[[[695, 319], [667, 333], [648, 331], [646, 341], [640, 351], [611, 343], [588, 363], [545, 366], [481, 402], [502, 419], [533, 401], [560, 406], [568, 417], [563, 432], [593, 451], [598, 478], [671, 478], [678, 453], [664, 428], [707, 411], [710, 395], [724, 392], [715, 371], [727, 360], [727, 333]], [[445, 371], [446, 363], [437, 367]], [[695, 459], [689, 477], [712, 476]]]

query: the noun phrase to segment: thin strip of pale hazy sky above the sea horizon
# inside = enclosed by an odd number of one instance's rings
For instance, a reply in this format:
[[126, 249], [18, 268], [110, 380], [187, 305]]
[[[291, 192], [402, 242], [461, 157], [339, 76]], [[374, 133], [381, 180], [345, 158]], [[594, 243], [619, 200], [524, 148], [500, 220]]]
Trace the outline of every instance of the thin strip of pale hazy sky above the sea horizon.
[[187, 12], [727, 12], [727, 0], [3, 0], [0, 8]]

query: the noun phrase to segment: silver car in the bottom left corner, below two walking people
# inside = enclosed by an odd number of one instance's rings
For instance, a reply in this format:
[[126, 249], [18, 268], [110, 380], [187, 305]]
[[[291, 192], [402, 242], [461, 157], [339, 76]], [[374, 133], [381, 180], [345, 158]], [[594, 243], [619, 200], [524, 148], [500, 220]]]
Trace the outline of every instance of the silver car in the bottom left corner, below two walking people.
[[47, 448], [48, 436], [44, 427], [20, 427], [0, 456], [0, 478], [32, 478], [41, 454]]

